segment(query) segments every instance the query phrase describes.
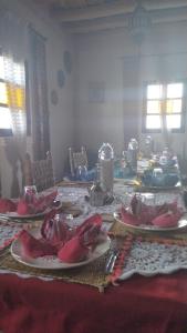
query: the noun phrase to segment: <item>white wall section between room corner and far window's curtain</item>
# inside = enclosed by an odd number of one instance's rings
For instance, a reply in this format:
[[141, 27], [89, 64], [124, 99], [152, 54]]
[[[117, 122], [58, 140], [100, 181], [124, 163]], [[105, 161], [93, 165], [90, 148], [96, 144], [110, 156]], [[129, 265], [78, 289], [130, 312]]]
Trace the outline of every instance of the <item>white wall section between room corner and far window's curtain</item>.
[[[79, 143], [97, 150], [110, 141], [115, 149], [123, 145], [123, 33], [106, 32], [80, 37], [76, 43], [79, 59], [79, 97], [76, 124]], [[104, 85], [104, 101], [92, 102], [89, 87]]]

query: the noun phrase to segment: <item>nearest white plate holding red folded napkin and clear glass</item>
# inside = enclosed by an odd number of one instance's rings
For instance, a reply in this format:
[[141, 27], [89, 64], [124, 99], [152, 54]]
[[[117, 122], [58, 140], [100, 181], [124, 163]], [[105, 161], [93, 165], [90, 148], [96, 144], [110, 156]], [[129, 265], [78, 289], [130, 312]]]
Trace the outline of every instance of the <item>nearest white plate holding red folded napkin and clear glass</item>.
[[31, 268], [61, 270], [89, 264], [110, 249], [102, 218], [94, 214], [70, 229], [65, 218], [50, 212], [41, 226], [23, 230], [11, 245], [12, 256]]

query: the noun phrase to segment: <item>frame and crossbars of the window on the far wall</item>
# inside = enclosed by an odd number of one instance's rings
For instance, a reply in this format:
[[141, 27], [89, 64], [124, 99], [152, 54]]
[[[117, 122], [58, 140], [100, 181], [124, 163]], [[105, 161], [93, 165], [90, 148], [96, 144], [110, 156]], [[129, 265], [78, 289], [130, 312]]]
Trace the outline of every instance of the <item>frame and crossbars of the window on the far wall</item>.
[[[183, 83], [184, 87], [184, 93], [183, 93], [183, 98], [181, 98], [181, 125], [179, 129], [169, 129], [169, 131], [172, 133], [185, 133], [185, 129], [186, 129], [186, 123], [185, 123], [185, 119], [186, 119], [186, 108], [187, 108], [187, 79], [181, 79], [181, 80], [168, 80], [168, 81], [150, 81], [150, 82], [145, 82], [143, 85], [143, 110], [142, 110], [142, 132], [143, 133], [162, 133], [163, 129], [147, 129], [146, 128], [146, 117], [147, 117], [147, 87], [152, 85], [152, 84], [160, 84], [163, 85], [163, 90], [164, 90], [164, 94], [163, 97], [159, 99], [159, 101], [162, 102], [162, 110], [160, 110], [160, 118], [162, 118], [162, 122], [164, 123], [164, 130], [167, 130], [166, 128], [166, 107], [164, 108], [164, 105], [166, 105], [166, 88], [168, 84], [170, 83]], [[152, 113], [152, 115], [155, 115], [158, 113]], [[177, 113], [176, 113], [177, 114]]]

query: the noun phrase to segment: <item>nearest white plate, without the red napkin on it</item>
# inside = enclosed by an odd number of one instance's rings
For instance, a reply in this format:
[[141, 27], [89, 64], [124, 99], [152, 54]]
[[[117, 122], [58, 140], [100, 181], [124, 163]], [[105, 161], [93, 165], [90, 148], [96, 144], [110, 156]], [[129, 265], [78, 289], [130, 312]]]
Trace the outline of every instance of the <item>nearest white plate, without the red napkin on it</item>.
[[75, 263], [61, 262], [55, 255], [40, 256], [37, 259], [22, 258], [21, 243], [19, 239], [12, 242], [11, 254], [17, 261], [21, 262], [27, 266], [42, 269], [42, 270], [62, 270], [62, 269], [83, 266], [91, 263], [95, 259], [102, 256], [110, 249], [110, 244], [111, 244], [111, 240], [110, 238], [107, 238], [105, 241], [96, 245], [94, 251], [89, 254], [86, 260], [81, 262], [75, 262]]

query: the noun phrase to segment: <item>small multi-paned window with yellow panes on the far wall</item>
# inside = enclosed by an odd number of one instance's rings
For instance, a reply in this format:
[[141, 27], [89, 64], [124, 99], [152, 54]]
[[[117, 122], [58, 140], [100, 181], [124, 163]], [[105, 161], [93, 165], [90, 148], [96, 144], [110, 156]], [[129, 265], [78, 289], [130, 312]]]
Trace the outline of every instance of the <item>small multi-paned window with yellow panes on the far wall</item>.
[[184, 82], [147, 84], [143, 131], [160, 132], [163, 129], [172, 132], [184, 131]]

